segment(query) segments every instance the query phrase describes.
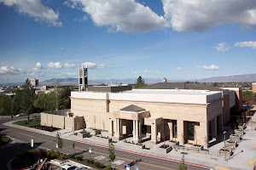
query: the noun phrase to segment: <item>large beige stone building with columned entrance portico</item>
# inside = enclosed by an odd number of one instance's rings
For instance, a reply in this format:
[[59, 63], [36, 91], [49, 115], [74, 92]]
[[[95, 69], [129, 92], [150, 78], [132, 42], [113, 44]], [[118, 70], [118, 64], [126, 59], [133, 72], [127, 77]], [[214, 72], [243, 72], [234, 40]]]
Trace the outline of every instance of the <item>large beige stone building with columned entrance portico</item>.
[[217, 89], [72, 92], [71, 112], [84, 116], [86, 127], [107, 131], [113, 139], [132, 137], [140, 142], [148, 137], [153, 144], [176, 139], [180, 144], [207, 147], [209, 139], [217, 138], [224, 123], [229, 122], [230, 109], [240, 105], [236, 102], [240, 88]]

